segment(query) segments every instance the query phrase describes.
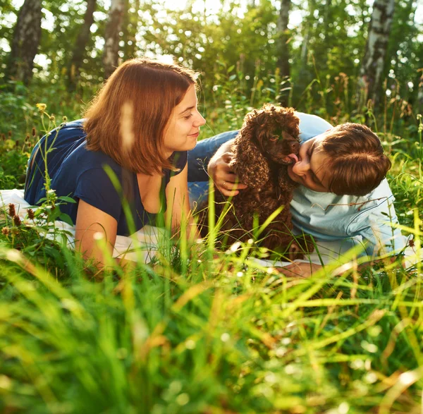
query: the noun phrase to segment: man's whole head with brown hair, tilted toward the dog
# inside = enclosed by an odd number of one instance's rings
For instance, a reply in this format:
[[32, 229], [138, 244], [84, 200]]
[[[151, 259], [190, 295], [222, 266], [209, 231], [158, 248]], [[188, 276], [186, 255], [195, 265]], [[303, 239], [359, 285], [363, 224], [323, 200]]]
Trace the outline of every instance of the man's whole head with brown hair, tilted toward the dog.
[[288, 174], [296, 183], [320, 193], [366, 195], [390, 168], [372, 130], [359, 123], [343, 123], [304, 142]]

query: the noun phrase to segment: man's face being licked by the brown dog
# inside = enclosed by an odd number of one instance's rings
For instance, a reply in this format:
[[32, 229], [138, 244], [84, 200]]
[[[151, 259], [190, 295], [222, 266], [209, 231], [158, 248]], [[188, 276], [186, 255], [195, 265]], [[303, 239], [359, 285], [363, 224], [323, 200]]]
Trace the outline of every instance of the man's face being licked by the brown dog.
[[326, 167], [328, 156], [319, 147], [327, 133], [304, 142], [300, 147], [298, 162], [288, 166], [291, 180], [319, 193], [329, 193], [329, 173]]

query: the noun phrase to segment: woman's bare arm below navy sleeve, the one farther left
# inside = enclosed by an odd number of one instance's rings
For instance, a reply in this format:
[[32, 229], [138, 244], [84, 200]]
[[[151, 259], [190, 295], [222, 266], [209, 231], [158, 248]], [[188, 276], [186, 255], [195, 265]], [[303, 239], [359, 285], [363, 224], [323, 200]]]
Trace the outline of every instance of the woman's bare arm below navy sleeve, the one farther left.
[[[84, 259], [93, 259], [97, 267], [106, 264], [105, 255], [113, 252], [118, 222], [114, 217], [80, 200], [75, 224], [75, 249], [82, 252]], [[102, 243], [98, 241], [102, 240]], [[101, 248], [100, 245], [104, 245]]]

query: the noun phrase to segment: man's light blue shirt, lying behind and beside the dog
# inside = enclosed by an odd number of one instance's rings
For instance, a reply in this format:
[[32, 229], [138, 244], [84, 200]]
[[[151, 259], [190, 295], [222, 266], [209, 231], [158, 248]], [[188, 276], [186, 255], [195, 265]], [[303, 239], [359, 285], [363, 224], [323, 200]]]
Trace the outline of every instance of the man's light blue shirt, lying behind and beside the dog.
[[[300, 118], [300, 138], [307, 141], [332, 128], [319, 116], [297, 112]], [[317, 193], [303, 185], [295, 189], [290, 210], [295, 233], [309, 233], [317, 241], [336, 241], [343, 238], [362, 238], [367, 242], [368, 255], [377, 252], [399, 251], [405, 238], [399, 229], [393, 207], [393, 194], [386, 179], [364, 196]]]

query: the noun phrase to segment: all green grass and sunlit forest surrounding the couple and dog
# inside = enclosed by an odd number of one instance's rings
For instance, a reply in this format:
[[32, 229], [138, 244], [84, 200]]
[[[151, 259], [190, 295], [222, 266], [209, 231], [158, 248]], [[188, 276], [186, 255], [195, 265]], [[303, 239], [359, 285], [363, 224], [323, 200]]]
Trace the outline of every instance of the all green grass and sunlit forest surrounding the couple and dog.
[[[372, 127], [418, 252], [422, 28], [422, 0], [1, 0], [0, 188], [120, 61], [165, 56], [200, 72], [202, 138], [265, 102]], [[0, 219], [0, 412], [422, 412], [421, 262], [298, 280], [180, 246], [95, 274], [45, 237], [62, 201]]]

